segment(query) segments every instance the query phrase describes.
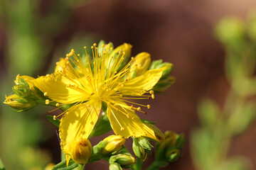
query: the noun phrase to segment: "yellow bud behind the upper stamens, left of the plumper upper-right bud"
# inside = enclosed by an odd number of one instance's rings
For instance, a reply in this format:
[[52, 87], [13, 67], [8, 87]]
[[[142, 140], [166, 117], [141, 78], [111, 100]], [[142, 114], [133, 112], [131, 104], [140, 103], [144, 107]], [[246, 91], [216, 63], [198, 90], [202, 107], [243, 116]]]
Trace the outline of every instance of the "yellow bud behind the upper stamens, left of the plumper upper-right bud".
[[107, 61], [107, 67], [110, 62], [109, 68], [111, 70], [114, 70], [114, 67], [118, 67], [117, 72], [119, 72], [129, 61], [129, 58], [131, 57], [131, 52], [132, 52], [132, 45], [127, 43], [124, 43], [123, 45], [119, 45], [110, 53], [110, 61]]

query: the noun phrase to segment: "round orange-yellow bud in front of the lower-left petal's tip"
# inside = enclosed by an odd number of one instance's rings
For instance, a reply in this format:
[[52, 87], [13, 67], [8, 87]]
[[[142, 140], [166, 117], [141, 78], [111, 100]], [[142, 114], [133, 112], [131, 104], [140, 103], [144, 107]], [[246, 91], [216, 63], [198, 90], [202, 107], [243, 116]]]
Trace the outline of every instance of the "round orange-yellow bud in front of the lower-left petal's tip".
[[74, 140], [70, 145], [70, 156], [78, 164], [87, 164], [91, 153], [92, 145], [87, 139]]

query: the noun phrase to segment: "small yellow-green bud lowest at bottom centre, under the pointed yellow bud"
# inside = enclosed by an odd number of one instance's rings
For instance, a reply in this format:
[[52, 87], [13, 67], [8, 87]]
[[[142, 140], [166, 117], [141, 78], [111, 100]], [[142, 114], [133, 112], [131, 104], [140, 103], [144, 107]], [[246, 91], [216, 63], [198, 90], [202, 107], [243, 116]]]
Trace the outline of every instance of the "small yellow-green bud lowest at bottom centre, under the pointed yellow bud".
[[136, 163], [136, 159], [132, 155], [128, 154], [117, 154], [114, 155], [118, 164], [120, 164], [123, 168], [128, 168]]

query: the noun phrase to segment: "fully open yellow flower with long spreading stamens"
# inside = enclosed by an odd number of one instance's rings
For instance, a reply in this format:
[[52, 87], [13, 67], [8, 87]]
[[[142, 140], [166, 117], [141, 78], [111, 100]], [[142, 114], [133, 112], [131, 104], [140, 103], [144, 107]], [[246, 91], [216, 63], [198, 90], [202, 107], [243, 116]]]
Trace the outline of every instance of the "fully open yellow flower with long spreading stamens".
[[[93, 65], [88, 62], [90, 60], [86, 47], [86, 62], [71, 50], [65, 59], [57, 63], [55, 73], [33, 80], [38, 89], [60, 103], [58, 106], [73, 103], [72, 107], [60, 114], [63, 115], [59, 129], [60, 146], [66, 155], [70, 154], [70, 145], [74, 140], [86, 139], [90, 135], [102, 102], [107, 104], [107, 117], [116, 135], [125, 138], [145, 136], [159, 141], [154, 130], [142, 123], [136, 113], [146, 113], [142, 111], [142, 107], [150, 106], [129, 100], [154, 98], [154, 91], [151, 89], [166, 68], [151, 69], [134, 79], [124, 79], [134, 58], [120, 67], [127, 59], [127, 53], [130, 53], [124, 52], [122, 47], [132, 46], [124, 44], [117, 47], [118, 50], [112, 50], [110, 45], [103, 45], [102, 55], [98, 55], [97, 45], [94, 44], [91, 47]], [[112, 55], [113, 52], [118, 55]]]

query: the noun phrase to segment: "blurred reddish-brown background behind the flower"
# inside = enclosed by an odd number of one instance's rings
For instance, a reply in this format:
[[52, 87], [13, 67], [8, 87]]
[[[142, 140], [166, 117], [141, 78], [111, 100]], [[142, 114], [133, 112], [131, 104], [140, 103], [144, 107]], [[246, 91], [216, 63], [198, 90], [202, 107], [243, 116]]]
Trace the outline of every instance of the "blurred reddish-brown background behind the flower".
[[[53, 1], [42, 0], [38, 15], [46, 15]], [[61, 4], [59, 4], [61, 6]], [[198, 127], [197, 106], [203, 97], [215, 99], [220, 106], [230, 88], [225, 79], [223, 47], [213, 36], [213, 26], [223, 16], [245, 18], [256, 7], [255, 0], [91, 0], [74, 6], [62, 28], [50, 39], [52, 50], [43, 60], [43, 68], [34, 75], [48, 72], [50, 62], [55, 62], [54, 49], [70, 42], [77, 33], [92, 35], [94, 42], [100, 39], [133, 45], [132, 55], [149, 52], [153, 60], [163, 59], [174, 64], [172, 75], [176, 83], [164, 95], [157, 95], [151, 102], [151, 111], [143, 118], [154, 120], [162, 130], [174, 130], [186, 135], [182, 157], [165, 169], [192, 170], [190, 132]], [[9, 9], [11, 10], [11, 9]], [[0, 24], [1, 76], [7, 72], [6, 18]], [[41, 28], [41, 33], [45, 30]], [[46, 41], [44, 43], [49, 43]], [[83, 47], [83, 44], [81, 44]], [[62, 56], [58, 56], [62, 57]], [[250, 159], [256, 169], [256, 123], [233, 139], [230, 155], [242, 155]], [[100, 138], [95, 138], [95, 143]], [[55, 144], [54, 144], [55, 143]], [[55, 135], [42, 147], [58, 147]], [[58, 148], [55, 149], [58, 151]], [[58, 157], [53, 154], [53, 157]], [[3, 155], [1, 157], [4, 157]], [[59, 158], [55, 158], [58, 163]], [[149, 158], [146, 162], [151, 162]], [[101, 167], [102, 166], [102, 167]], [[107, 163], [88, 166], [87, 169], [108, 169]]]

